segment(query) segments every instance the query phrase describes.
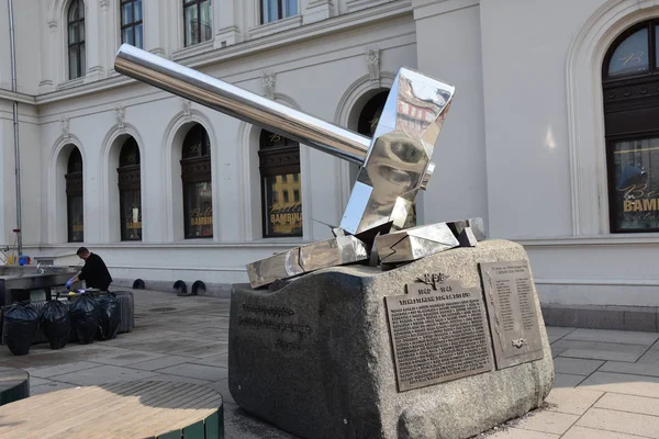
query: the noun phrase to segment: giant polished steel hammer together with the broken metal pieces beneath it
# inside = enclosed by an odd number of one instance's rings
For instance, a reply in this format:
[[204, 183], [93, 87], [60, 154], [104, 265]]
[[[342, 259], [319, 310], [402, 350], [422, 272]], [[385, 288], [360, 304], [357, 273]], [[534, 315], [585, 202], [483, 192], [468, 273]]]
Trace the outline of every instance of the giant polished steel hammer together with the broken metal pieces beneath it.
[[429, 181], [434, 144], [455, 91], [451, 86], [401, 68], [369, 139], [126, 44], [120, 47], [114, 68], [361, 166], [336, 238], [250, 263], [248, 274], [255, 288], [368, 259], [376, 233], [381, 234], [375, 244], [380, 259], [392, 263], [457, 247], [458, 238], [473, 243], [483, 237], [478, 218], [388, 233], [403, 227], [416, 193]]

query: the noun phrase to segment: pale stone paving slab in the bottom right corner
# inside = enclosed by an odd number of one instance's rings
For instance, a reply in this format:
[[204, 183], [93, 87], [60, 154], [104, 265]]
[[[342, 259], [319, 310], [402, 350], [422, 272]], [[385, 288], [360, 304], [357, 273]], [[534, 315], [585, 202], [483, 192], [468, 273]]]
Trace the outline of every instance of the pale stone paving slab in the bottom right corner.
[[603, 408], [591, 408], [577, 425], [606, 431], [659, 439], [659, 417]]

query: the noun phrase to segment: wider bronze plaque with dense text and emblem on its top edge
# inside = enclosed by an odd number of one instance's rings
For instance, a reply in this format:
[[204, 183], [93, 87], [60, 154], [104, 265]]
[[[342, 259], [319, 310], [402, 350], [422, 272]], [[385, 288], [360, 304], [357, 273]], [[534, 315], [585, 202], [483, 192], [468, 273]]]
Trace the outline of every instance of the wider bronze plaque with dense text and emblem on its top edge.
[[399, 392], [491, 371], [480, 289], [440, 274], [420, 281], [406, 295], [384, 297]]

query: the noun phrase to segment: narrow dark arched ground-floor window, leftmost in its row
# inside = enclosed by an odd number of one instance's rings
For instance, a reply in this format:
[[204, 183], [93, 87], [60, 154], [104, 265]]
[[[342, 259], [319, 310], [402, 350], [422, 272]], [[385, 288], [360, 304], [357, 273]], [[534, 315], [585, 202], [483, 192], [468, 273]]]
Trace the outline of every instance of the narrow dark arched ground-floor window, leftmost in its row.
[[85, 240], [82, 205], [82, 156], [76, 147], [71, 150], [66, 167], [66, 218], [69, 243]]

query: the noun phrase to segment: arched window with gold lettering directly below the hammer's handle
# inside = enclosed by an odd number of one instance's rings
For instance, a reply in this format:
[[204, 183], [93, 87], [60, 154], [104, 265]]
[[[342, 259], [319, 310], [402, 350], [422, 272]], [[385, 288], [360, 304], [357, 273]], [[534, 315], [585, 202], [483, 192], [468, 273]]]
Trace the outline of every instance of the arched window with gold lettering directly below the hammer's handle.
[[264, 237], [302, 236], [300, 145], [263, 130], [259, 147]]

